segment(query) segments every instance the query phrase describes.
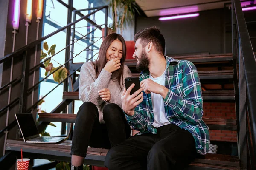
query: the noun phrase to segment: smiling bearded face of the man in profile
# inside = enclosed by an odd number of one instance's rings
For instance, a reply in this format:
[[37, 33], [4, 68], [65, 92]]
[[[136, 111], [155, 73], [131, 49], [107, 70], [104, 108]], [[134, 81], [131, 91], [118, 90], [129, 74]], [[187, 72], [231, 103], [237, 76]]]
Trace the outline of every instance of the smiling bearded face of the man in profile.
[[148, 59], [148, 55], [145, 51], [145, 47], [143, 47], [143, 43], [141, 43], [141, 39], [138, 39], [135, 42], [134, 48], [135, 48], [135, 52], [132, 57], [137, 59], [136, 69], [138, 71], [148, 70], [150, 62]]

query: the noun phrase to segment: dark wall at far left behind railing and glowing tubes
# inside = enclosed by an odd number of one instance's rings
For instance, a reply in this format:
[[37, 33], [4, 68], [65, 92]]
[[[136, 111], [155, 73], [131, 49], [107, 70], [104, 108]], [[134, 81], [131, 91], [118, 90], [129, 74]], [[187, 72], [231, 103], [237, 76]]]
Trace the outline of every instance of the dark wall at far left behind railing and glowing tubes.
[[[36, 23], [36, 9], [38, 5], [38, 0], [33, 0], [33, 7], [32, 7], [32, 22], [29, 25], [29, 36], [28, 36], [28, 44], [36, 40], [36, 30], [37, 30], [37, 23]], [[14, 0], [9, 0], [8, 6], [8, 16], [7, 16], [7, 25], [6, 25], [6, 36], [5, 36], [5, 48], [4, 48], [4, 55], [12, 53], [12, 42], [13, 42], [13, 29], [12, 29], [12, 18], [13, 18], [13, 6]], [[7, 10], [6, 10], [7, 11]], [[17, 31], [16, 36], [16, 43], [15, 43], [15, 50], [22, 48], [25, 46], [26, 40], [26, 0], [20, 1], [20, 26], [19, 30]], [[42, 22], [39, 25], [39, 38], [41, 37], [42, 33]], [[41, 45], [38, 45], [37, 49], [37, 63], [40, 61], [40, 49]], [[27, 53], [27, 60], [29, 61], [29, 68], [32, 68], [34, 65], [35, 60], [35, 48], [32, 48]], [[11, 70], [11, 61], [3, 63], [3, 72], [2, 72], [2, 85], [5, 85], [10, 81], [10, 70]], [[22, 73], [22, 55], [16, 57], [14, 59], [14, 70], [13, 70], [13, 79], [20, 76]], [[36, 71], [35, 74], [35, 82], [38, 82], [39, 79], [39, 69]], [[32, 86], [32, 78], [33, 74], [29, 74], [29, 87]], [[1, 86], [2, 86], [1, 85]], [[4, 108], [7, 105], [8, 99], [8, 88], [1, 91], [0, 96], [0, 109]], [[27, 95], [27, 108], [31, 106], [31, 93]], [[20, 97], [20, 83], [16, 83], [12, 86], [12, 93], [11, 93], [11, 102]], [[35, 89], [34, 95], [34, 102], [37, 101], [38, 98], [38, 89]], [[12, 121], [15, 120], [14, 113], [18, 113], [18, 102], [10, 108], [9, 112], [9, 121], [10, 124]], [[1, 113], [0, 115], [0, 130], [6, 127], [6, 112]], [[33, 112], [34, 117], [36, 115], [36, 111]], [[16, 130], [17, 126], [9, 130], [8, 139], [15, 139], [16, 138]], [[3, 155], [3, 146], [4, 146], [4, 135], [0, 136], [0, 157]]]

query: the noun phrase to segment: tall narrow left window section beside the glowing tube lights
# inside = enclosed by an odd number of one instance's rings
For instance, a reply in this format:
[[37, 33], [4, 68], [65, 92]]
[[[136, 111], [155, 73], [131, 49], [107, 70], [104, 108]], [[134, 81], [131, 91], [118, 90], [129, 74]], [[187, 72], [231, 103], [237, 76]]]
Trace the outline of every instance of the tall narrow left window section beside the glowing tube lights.
[[[63, 0], [64, 3], [68, 3], [68, 0]], [[59, 3], [57, 0], [46, 0], [45, 11], [43, 17], [43, 37], [51, 34], [52, 32], [58, 30], [59, 28], [67, 25], [67, 14], [68, 8], [63, 4]], [[66, 47], [66, 30], [55, 34], [54, 36], [45, 40], [49, 45], [56, 44], [55, 51], [58, 52]], [[43, 49], [43, 47], [41, 48]], [[45, 52], [45, 51], [44, 51]], [[59, 54], [52, 57], [51, 62], [53, 67], [58, 67], [60, 64], [65, 62], [65, 50], [61, 51]], [[40, 70], [40, 79], [45, 77], [45, 69]], [[58, 82], [53, 80], [52, 76], [44, 82], [41, 82], [39, 86], [39, 99], [46, 95], [51, 89], [55, 88]], [[41, 104], [41, 110], [47, 113], [51, 112], [61, 101], [63, 93], [63, 84], [59, 85], [54, 91], [44, 98], [44, 103]], [[61, 135], [61, 123], [54, 122], [57, 127], [48, 126], [46, 132], [50, 133], [51, 136]]]

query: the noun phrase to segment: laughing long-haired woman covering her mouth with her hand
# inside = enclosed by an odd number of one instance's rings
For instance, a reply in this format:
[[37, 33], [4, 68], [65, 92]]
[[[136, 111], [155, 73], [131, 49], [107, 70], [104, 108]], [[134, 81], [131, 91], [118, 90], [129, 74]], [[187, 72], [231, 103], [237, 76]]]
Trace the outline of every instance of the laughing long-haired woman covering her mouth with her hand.
[[88, 145], [110, 148], [130, 136], [130, 126], [121, 109], [124, 79], [131, 77], [125, 56], [125, 40], [113, 33], [103, 40], [99, 59], [85, 62], [81, 67], [79, 99], [83, 104], [77, 113], [73, 133], [73, 170], [82, 170]]

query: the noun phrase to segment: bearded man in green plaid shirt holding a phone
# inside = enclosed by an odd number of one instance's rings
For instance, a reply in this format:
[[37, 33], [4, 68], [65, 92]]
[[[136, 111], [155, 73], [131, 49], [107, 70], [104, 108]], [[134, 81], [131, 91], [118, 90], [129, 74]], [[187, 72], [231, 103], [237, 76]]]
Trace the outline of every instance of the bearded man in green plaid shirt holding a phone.
[[105, 166], [109, 170], [181, 169], [209, 147], [198, 72], [192, 62], [164, 56], [165, 40], [156, 27], [139, 31], [134, 41], [141, 89], [130, 95], [131, 85], [122, 93], [122, 109], [140, 133], [112, 147]]

